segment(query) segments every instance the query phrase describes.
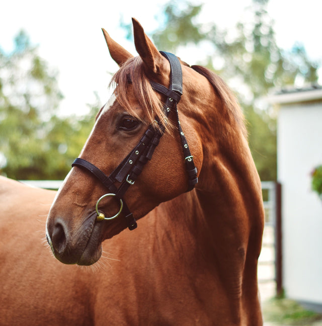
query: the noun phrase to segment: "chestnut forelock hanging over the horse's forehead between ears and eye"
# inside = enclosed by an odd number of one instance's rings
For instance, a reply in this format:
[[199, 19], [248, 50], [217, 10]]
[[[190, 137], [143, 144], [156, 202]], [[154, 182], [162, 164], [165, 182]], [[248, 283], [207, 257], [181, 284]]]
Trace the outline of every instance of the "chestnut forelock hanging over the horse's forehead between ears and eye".
[[138, 101], [146, 123], [153, 123], [155, 117], [160, 121], [164, 119], [163, 103], [153, 91], [140, 57], [127, 60], [114, 74], [110, 85], [115, 85], [114, 94], [119, 104], [134, 117], [142, 121], [137, 108], [129, 101], [129, 92], [133, 92]]

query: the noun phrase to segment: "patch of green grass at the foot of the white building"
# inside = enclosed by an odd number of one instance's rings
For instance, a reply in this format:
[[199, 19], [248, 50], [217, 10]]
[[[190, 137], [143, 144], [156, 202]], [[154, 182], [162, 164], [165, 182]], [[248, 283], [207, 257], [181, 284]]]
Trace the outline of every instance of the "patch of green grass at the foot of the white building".
[[297, 302], [286, 298], [273, 298], [263, 305], [265, 321], [280, 322], [284, 325], [311, 325], [322, 320], [322, 315], [304, 309]]

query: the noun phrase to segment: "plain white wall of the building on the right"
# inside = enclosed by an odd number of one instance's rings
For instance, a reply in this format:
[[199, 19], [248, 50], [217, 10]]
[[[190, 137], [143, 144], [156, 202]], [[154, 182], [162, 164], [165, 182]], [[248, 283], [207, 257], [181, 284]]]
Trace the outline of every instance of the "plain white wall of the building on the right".
[[322, 305], [322, 201], [310, 173], [322, 164], [322, 102], [280, 105], [283, 285], [287, 297]]

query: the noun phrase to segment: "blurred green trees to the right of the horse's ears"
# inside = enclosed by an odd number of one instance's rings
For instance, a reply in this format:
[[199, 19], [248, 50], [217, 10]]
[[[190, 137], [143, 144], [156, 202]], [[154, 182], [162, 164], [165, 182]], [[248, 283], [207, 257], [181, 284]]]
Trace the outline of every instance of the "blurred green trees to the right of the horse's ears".
[[[248, 120], [249, 143], [262, 180], [276, 180], [276, 113], [263, 101], [272, 89], [316, 83], [318, 65], [295, 44], [291, 52], [277, 46], [268, 0], [253, 0], [246, 21], [236, 23], [234, 33], [213, 23], [199, 24], [201, 5], [168, 2], [152, 33], [159, 49], [173, 51], [201, 43], [212, 55], [199, 64], [220, 74], [237, 94]], [[208, 51], [209, 52], [209, 51]], [[196, 62], [193, 62], [195, 64]]]

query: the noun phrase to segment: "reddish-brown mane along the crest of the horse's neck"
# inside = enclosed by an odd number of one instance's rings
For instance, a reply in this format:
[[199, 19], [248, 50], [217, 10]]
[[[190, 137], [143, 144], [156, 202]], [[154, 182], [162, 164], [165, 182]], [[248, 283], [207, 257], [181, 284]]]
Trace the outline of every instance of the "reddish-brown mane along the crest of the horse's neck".
[[208, 79], [222, 105], [228, 111], [229, 115], [233, 117], [241, 132], [247, 138], [247, 129], [245, 125], [244, 114], [240, 109], [235, 95], [229, 89], [227, 84], [222, 80], [221, 77], [206, 67], [193, 65], [191, 68]]

